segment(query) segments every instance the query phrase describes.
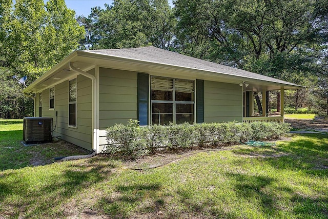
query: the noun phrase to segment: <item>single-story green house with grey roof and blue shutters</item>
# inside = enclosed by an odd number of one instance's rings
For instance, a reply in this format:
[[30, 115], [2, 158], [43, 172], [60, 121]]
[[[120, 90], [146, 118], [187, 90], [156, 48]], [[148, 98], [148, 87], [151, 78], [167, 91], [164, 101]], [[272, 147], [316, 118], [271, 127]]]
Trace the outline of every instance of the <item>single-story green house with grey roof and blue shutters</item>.
[[[34, 98], [34, 116], [53, 117], [53, 135], [103, 151], [106, 129], [140, 125], [215, 122], [283, 122], [285, 89], [293, 83], [143, 47], [77, 50], [23, 90]], [[281, 92], [281, 116], [252, 117], [254, 92]], [[265, 112], [265, 104], [263, 104]]]

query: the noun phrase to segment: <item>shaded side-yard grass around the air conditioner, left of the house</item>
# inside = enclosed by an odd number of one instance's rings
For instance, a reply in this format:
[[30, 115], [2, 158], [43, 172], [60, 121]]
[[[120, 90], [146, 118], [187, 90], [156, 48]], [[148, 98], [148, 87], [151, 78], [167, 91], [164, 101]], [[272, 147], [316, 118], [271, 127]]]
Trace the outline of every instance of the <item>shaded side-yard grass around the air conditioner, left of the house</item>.
[[0, 120], [0, 171], [52, 163], [54, 157], [88, 154], [65, 141], [23, 146], [23, 120]]

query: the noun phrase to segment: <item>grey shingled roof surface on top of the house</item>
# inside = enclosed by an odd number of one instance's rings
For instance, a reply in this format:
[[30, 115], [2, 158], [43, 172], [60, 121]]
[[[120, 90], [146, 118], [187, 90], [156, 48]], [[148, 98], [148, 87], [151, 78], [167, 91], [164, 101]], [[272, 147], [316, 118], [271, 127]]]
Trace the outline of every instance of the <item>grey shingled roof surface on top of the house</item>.
[[194, 58], [176, 52], [159, 49], [153, 46], [131, 48], [131, 49], [84, 50], [84, 52], [122, 57], [127, 59], [135, 59], [139, 61], [159, 63], [159, 64], [170, 65], [170, 66], [179, 66], [183, 68], [205, 70], [205, 71], [211, 71], [220, 74], [228, 74], [228, 75], [240, 76], [244, 78], [260, 79], [262, 81], [267, 81], [267, 82], [276, 82], [280, 84], [301, 87], [299, 85], [290, 82], [285, 82], [273, 77], [268, 77], [250, 71], [245, 71], [238, 68], [212, 63], [199, 58]]

